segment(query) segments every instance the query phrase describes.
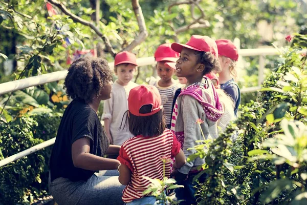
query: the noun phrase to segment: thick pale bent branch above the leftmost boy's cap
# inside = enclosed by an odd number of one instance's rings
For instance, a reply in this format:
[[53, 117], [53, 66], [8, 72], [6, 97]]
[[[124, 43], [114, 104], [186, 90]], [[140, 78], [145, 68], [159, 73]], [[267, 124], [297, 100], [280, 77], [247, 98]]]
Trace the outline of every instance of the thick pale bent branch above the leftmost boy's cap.
[[140, 32], [139, 35], [133, 40], [133, 42], [131, 42], [126, 48], [124, 48], [123, 51], [133, 50], [136, 46], [141, 44], [148, 36], [144, 15], [140, 7], [139, 0], [131, 0], [131, 3], [134, 13], [137, 17]]

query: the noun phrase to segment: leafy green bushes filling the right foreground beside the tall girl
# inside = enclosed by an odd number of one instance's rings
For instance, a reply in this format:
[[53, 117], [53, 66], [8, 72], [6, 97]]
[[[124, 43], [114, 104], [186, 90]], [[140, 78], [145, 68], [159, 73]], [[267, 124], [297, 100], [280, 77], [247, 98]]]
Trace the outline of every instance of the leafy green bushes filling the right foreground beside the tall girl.
[[[303, 47], [298, 40], [296, 46]], [[306, 57], [281, 50], [279, 64], [265, 80], [257, 101], [209, 143], [199, 186], [200, 204], [303, 204], [307, 151]], [[281, 121], [281, 122], [280, 122]], [[237, 140], [230, 140], [233, 134]]]

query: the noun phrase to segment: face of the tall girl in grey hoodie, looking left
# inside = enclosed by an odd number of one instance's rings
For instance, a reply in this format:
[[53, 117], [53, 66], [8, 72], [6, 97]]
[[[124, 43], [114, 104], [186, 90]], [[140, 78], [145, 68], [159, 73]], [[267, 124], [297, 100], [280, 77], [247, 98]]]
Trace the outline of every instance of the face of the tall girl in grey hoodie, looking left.
[[177, 77], [195, 76], [196, 69], [198, 68], [198, 56], [195, 52], [188, 48], [183, 48], [180, 54], [180, 58], [176, 63], [176, 75]]

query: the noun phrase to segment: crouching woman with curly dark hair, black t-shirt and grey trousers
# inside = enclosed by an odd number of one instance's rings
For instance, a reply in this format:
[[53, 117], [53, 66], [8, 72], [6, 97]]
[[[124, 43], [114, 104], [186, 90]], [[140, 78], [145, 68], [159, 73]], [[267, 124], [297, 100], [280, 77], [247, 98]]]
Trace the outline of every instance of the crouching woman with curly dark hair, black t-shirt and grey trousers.
[[117, 176], [95, 171], [116, 170], [119, 154], [110, 145], [97, 115], [101, 100], [110, 98], [112, 74], [107, 61], [80, 58], [71, 65], [64, 87], [73, 100], [63, 113], [50, 158], [49, 191], [58, 204], [123, 204]]

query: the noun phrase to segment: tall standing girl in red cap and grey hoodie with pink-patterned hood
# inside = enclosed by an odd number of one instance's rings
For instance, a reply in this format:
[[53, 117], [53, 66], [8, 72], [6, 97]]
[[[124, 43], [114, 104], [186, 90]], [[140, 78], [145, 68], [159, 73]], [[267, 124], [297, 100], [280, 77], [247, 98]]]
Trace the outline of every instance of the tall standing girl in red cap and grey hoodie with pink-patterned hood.
[[[203, 144], [200, 142], [203, 140], [202, 132], [206, 139], [217, 137], [216, 121], [222, 116], [223, 107], [211, 80], [204, 75], [212, 71], [218, 72], [221, 68], [216, 44], [208, 36], [192, 35], [187, 44], [173, 43], [171, 48], [181, 53], [176, 63], [176, 75], [187, 79], [187, 85], [174, 106], [171, 129], [188, 157], [196, 152], [189, 148]], [[175, 190], [177, 198], [185, 200], [181, 204], [196, 203], [196, 182], [193, 182], [193, 177], [200, 172], [197, 168], [203, 163], [205, 160], [197, 157], [172, 172], [178, 184], [184, 186], [184, 189]], [[205, 175], [199, 180], [203, 182]]]

